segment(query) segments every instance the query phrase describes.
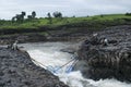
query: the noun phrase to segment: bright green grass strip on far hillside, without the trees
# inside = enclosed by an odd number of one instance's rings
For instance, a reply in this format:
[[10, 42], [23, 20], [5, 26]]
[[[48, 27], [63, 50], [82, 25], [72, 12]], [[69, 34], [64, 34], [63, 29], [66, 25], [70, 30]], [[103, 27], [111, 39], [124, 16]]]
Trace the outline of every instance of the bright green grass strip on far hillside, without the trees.
[[36, 18], [22, 23], [0, 21], [0, 29], [37, 29], [44, 26], [49, 28], [59, 26], [103, 28], [122, 24], [131, 24], [131, 16], [124, 14], [103, 14], [88, 17], [63, 17], [52, 18], [51, 24], [49, 24], [48, 18]]

